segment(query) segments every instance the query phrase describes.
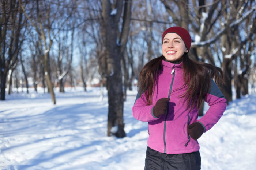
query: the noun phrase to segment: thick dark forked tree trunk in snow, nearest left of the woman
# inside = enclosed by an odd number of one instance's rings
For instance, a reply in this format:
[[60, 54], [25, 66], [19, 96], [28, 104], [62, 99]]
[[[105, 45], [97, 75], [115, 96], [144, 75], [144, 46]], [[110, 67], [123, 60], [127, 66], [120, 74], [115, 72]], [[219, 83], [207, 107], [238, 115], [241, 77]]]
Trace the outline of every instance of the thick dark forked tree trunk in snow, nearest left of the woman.
[[[122, 31], [118, 41], [118, 27], [120, 17], [123, 11], [123, 25]], [[105, 37], [105, 51], [106, 51], [106, 77], [107, 77], [107, 89], [108, 89], [108, 132], [107, 135], [111, 135], [111, 129], [113, 126], [118, 125], [118, 130], [115, 133], [117, 137], [124, 137], [124, 120], [123, 120], [123, 84], [122, 84], [122, 72], [121, 72], [121, 57], [124, 52], [127, 37], [129, 32], [129, 19], [131, 15], [132, 1], [115, 1], [111, 4], [109, 0], [102, 1], [102, 17], [103, 28]], [[119, 42], [117, 44], [116, 42]]]

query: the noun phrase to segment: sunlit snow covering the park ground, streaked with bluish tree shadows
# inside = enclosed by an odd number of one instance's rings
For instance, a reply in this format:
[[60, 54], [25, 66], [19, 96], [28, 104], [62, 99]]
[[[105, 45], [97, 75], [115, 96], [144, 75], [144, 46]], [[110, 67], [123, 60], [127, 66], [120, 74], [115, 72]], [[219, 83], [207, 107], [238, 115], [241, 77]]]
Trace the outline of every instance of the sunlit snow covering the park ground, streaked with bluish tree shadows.
[[[50, 94], [30, 89], [0, 101], [0, 169], [143, 170], [147, 123], [133, 118], [136, 88], [124, 102], [127, 137], [107, 137], [107, 91], [97, 87]], [[24, 90], [26, 91], [26, 90]], [[205, 107], [204, 111], [207, 110]], [[256, 167], [256, 94], [231, 102], [212, 129], [199, 138], [202, 170]]]

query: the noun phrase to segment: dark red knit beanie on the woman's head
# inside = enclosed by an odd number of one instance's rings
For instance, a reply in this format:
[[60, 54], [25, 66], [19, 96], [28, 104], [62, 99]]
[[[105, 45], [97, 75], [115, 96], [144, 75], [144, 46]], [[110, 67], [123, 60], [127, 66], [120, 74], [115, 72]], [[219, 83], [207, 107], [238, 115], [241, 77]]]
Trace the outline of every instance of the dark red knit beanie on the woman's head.
[[187, 47], [188, 51], [190, 50], [191, 37], [186, 29], [184, 29], [182, 27], [170, 27], [170, 28], [166, 29], [162, 35], [162, 44], [163, 44], [163, 38], [165, 37], [165, 35], [167, 33], [177, 33], [184, 41], [185, 46]]

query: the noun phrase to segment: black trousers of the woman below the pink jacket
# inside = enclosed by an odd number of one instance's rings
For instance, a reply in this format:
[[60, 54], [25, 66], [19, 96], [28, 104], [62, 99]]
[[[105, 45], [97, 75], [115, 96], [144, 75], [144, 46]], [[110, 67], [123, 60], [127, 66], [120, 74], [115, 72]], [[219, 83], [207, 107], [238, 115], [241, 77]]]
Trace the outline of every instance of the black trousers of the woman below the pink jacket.
[[145, 170], [200, 170], [199, 151], [186, 154], [163, 154], [147, 147]]

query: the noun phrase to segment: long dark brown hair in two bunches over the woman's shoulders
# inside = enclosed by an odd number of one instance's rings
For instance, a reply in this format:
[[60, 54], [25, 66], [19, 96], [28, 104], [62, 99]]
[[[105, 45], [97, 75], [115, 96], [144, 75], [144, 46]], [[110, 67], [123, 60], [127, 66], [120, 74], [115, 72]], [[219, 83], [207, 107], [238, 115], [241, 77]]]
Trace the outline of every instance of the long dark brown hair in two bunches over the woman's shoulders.
[[[187, 109], [192, 110], [195, 105], [199, 109], [210, 90], [211, 79], [215, 80], [217, 84], [221, 81], [223, 82], [223, 72], [219, 67], [191, 60], [188, 53], [185, 53], [182, 58], [183, 79], [185, 82], [183, 86], [187, 86], [187, 90], [182, 97], [187, 101]], [[162, 55], [151, 60], [140, 71], [138, 80], [139, 93], [140, 96], [144, 93], [147, 104], [152, 104], [155, 82], [163, 59], [165, 58]]]

